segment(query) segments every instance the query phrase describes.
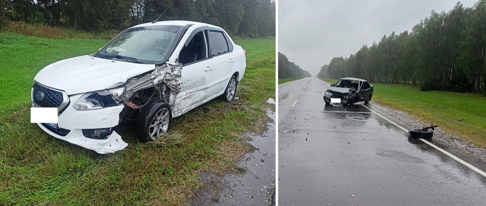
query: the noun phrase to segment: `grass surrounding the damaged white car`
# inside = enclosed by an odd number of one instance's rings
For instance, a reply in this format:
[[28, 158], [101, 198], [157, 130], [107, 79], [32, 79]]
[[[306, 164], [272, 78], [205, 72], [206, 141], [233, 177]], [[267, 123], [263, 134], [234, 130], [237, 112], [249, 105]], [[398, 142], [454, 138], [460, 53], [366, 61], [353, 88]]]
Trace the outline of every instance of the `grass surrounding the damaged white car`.
[[0, 205], [187, 205], [200, 171], [225, 173], [252, 148], [240, 134], [261, 131], [275, 98], [275, 39], [235, 39], [247, 51], [240, 99], [212, 100], [175, 118], [168, 135], [99, 158], [30, 123], [30, 88], [44, 66], [90, 54], [108, 39], [46, 39], [0, 33]]

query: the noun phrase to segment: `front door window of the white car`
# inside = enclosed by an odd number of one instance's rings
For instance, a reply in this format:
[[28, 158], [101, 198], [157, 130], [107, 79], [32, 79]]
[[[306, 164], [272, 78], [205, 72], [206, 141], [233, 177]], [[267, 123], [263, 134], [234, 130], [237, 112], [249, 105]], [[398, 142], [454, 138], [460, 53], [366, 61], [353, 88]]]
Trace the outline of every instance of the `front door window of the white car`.
[[190, 64], [206, 59], [206, 41], [203, 32], [197, 32], [187, 46], [179, 53], [179, 63]]

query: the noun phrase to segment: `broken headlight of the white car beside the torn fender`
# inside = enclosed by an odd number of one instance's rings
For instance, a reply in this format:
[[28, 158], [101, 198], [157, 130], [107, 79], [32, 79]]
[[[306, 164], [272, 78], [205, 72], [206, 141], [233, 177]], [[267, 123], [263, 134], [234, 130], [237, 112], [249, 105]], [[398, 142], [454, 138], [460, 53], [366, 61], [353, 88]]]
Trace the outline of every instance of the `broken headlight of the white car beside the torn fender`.
[[89, 92], [79, 98], [73, 105], [76, 110], [95, 110], [105, 107], [114, 107], [122, 104], [120, 96], [125, 91], [124, 87]]

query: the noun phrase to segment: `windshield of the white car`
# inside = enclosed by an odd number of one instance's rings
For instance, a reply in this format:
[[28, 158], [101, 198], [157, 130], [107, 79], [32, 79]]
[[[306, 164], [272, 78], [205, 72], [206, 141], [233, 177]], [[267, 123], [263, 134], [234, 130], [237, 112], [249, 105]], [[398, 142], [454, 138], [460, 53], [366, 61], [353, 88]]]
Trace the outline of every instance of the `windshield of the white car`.
[[181, 26], [163, 25], [127, 29], [98, 51], [97, 57], [157, 64], [169, 54]]

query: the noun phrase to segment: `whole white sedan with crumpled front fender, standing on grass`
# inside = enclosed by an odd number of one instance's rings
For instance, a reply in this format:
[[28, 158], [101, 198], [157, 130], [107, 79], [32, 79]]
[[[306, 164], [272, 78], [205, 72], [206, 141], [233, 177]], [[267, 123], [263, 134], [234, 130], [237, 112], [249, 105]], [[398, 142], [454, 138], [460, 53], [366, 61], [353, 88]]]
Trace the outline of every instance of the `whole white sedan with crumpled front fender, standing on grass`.
[[191, 21], [129, 28], [96, 53], [52, 63], [34, 78], [34, 107], [58, 108], [48, 134], [100, 154], [128, 144], [117, 129], [133, 127], [142, 142], [164, 135], [173, 117], [221, 96], [231, 102], [246, 51], [221, 28]]

